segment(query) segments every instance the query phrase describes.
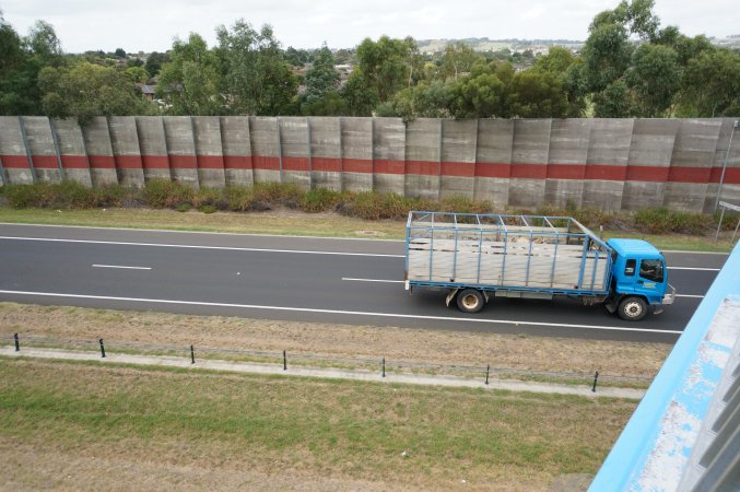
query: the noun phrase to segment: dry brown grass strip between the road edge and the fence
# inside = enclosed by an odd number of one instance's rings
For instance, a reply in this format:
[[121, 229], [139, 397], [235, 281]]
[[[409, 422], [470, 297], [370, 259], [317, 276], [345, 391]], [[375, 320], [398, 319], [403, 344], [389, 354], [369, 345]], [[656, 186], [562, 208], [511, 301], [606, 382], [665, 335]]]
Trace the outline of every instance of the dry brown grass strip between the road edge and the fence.
[[[326, 325], [219, 316], [86, 309], [0, 303], [0, 337], [90, 340], [266, 351], [334, 359], [386, 358], [446, 366], [526, 371], [599, 371], [602, 376], [651, 378], [671, 349], [665, 343], [467, 333], [435, 329]], [[604, 354], [608, 354], [606, 356]]]

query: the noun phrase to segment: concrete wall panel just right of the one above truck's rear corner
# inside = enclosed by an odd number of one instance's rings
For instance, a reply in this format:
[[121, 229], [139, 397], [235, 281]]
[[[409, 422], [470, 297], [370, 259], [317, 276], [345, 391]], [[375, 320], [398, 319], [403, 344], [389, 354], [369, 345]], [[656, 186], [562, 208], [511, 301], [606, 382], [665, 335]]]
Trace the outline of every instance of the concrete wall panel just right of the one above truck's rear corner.
[[478, 120], [442, 120], [442, 198], [475, 192]]

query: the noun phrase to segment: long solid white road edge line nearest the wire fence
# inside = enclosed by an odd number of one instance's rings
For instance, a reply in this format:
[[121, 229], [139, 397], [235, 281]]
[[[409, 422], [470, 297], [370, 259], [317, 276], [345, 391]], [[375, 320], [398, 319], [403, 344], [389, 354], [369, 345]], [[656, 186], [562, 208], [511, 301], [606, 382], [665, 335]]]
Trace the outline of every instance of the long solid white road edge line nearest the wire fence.
[[453, 316], [424, 316], [424, 315], [407, 315], [396, 313], [371, 313], [363, 311], [339, 311], [339, 309], [318, 309], [310, 307], [286, 307], [286, 306], [260, 306], [257, 304], [231, 304], [231, 303], [207, 303], [198, 301], [175, 301], [166, 298], [137, 298], [137, 297], [114, 297], [109, 295], [85, 295], [85, 294], [61, 294], [56, 292], [28, 292], [28, 291], [2, 291], [0, 294], [9, 295], [28, 295], [36, 297], [63, 297], [63, 298], [89, 298], [96, 301], [124, 301], [133, 303], [146, 304], [175, 304], [188, 306], [209, 306], [209, 307], [238, 307], [244, 309], [263, 309], [263, 311], [282, 311], [294, 313], [320, 313], [320, 314], [338, 314], [352, 316], [377, 316], [384, 318], [402, 318], [402, 319], [428, 319], [438, 321], [460, 321], [460, 323], [482, 323], [495, 325], [524, 325], [524, 326], [543, 326], [543, 327], [560, 327], [560, 328], [578, 328], [586, 330], [604, 330], [604, 331], [638, 331], [646, 333], [670, 333], [681, 335], [681, 330], [658, 330], [654, 328], [627, 328], [621, 326], [594, 326], [594, 325], [571, 325], [565, 323], [541, 323], [541, 321], [517, 321], [508, 319], [483, 319], [483, 318], [458, 318]]

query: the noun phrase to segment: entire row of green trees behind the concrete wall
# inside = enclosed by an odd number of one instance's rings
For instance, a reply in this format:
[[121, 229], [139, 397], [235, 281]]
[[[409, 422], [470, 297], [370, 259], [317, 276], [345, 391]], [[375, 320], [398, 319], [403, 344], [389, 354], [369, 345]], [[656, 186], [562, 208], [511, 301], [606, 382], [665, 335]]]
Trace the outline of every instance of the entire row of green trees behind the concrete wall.
[[[660, 26], [654, 0], [596, 15], [580, 52], [475, 52], [450, 43], [421, 54], [412, 37], [354, 49], [283, 49], [272, 27], [244, 20], [175, 39], [145, 63], [114, 54], [66, 55], [38, 21], [20, 36], [0, 12], [0, 114], [304, 115], [439, 118], [718, 117], [740, 115], [740, 52]], [[527, 66], [521, 63], [529, 61]], [[351, 63], [341, 78], [338, 62]], [[299, 75], [296, 66], [308, 65]], [[155, 99], [136, 85], [157, 78]]]

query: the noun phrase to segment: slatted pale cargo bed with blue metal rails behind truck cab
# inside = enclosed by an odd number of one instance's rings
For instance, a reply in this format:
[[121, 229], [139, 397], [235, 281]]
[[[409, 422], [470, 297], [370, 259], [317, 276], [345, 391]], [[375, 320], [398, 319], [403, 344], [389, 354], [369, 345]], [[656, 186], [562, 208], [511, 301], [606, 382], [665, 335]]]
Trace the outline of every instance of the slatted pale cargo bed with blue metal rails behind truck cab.
[[573, 218], [409, 213], [406, 270], [413, 285], [604, 293], [610, 267], [609, 246]]

